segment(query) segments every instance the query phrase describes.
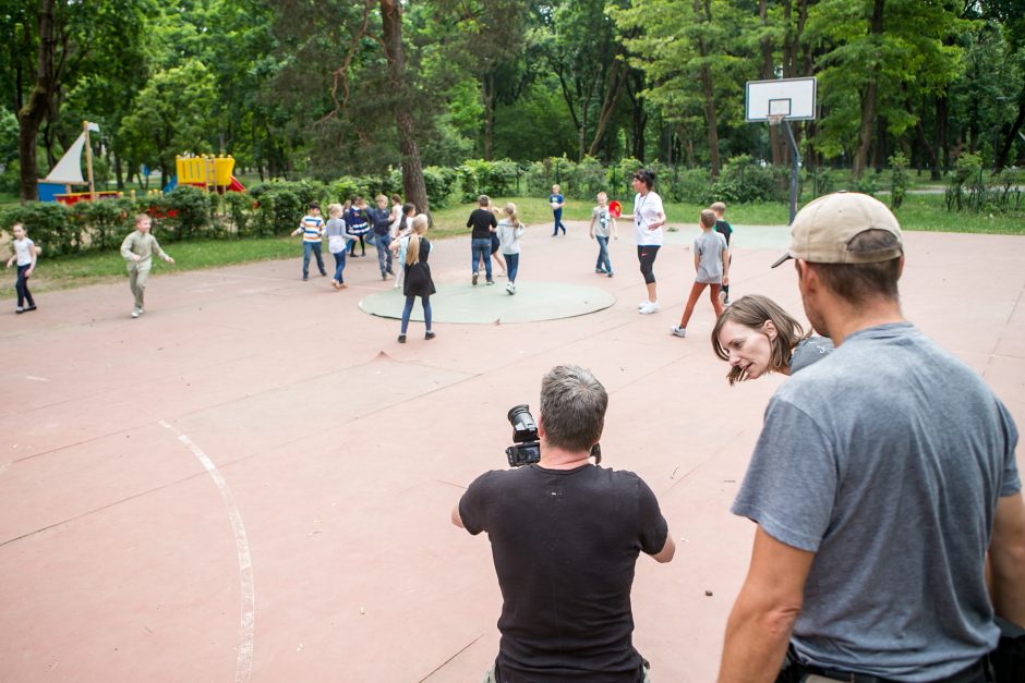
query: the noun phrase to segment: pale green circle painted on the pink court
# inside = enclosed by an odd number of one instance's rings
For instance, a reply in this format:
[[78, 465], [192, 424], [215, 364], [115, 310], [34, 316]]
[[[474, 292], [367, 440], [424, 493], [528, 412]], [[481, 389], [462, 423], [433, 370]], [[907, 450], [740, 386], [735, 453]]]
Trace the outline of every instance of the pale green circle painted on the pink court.
[[[524, 282], [509, 294], [504, 283], [478, 285], [447, 284], [431, 296], [433, 322], [535, 322], [582, 316], [608, 308], [616, 297], [595, 286], [562, 282]], [[402, 317], [406, 297], [397, 289], [378, 292], [360, 301], [360, 310], [382, 318]], [[423, 320], [418, 301], [412, 320]]]

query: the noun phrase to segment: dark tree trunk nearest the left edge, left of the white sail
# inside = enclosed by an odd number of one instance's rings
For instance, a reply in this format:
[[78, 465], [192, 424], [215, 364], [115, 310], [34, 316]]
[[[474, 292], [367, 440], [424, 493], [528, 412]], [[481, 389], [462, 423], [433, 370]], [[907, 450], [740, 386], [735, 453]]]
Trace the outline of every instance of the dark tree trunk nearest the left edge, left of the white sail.
[[38, 198], [36, 184], [36, 137], [39, 126], [50, 111], [50, 101], [57, 88], [53, 56], [57, 51], [57, 27], [53, 17], [53, 0], [39, 2], [39, 60], [36, 84], [28, 102], [17, 112], [17, 159], [21, 164], [21, 198], [32, 202]]

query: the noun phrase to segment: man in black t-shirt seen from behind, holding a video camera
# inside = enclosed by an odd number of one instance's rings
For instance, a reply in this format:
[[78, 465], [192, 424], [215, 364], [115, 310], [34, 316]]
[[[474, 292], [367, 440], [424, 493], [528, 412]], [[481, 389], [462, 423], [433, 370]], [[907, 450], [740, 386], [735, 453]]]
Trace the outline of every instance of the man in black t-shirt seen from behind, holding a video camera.
[[478, 477], [453, 509], [487, 532], [502, 588], [502, 639], [489, 681], [641, 682], [630, 586], [640, 551], [676, 546], [651, 489], [588, 459], [608, 394], [588, 370], [562, 365], [541, 382], [541, 460]]

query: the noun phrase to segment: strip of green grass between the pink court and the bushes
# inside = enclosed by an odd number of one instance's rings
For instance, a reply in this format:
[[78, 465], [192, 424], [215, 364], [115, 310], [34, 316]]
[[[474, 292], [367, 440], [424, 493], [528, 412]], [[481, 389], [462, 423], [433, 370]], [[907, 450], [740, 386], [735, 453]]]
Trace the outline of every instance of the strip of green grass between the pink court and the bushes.
[[[883, 202], [885, 196], [880, 197]], [[632, 198], [626, 198], [624, 209], [629, 211]], [[544, 197], [498, 197], [494, 203], [505, 206], [515, 202], [520, 220], [528, 224], [548, 225], [552, 209]], [[620, 202], [624, 198], [619, 199]], [[467, 217], [475, 204], [456, 205], [434, 212], [432, 237], [445, 239], [469, 234], [466, 228]], [[571, 199], [564, 211], [566, 220], [589, 221], [591, 202]], [[696, 223], [698, 212], [704, 208], [697, 204], [666, 204], [670, 225]], [[979, 215], [970, 212], [946, 211], [943, 195], [908, 195], [904, 206], [895, 211], [897, 220], [905, 230], [934, 232], [970, 232], [991, 234], [1025, 235], [1025, 218], [1022, 214], [1008, 216]], [[785, 224], [788, 209], [784, 204], [738, 204], [731, 206], [726, 218], [736, 224]], [[629, 225], [626, 225], [629, 228]], [[627, 233], [628, 234], [628, 233]], [[159, 234], [158, 234], [159, 236]], [[297, 258], [301, 247], [294, 237], [244, 237], [222, 240], [195, 240], [171, 242], [162, 245], [168, 254], [178, 261], [174, 266], [155, 264], [155, 272], [176, 272], [202, 270], [231, 264], [245, 264], [279, 258]], [[13, 269], [7, 271], [13, 276]], [[89, 252], [86, 254], [47, 258], [44, 254], [39, 263], [39, 272], [33, 278], [33, 289], [68, 289], [113, 281], [124, 277], [124, 260], [117, 251]], [[14, 278], [5, 278], [0, 285], [0, 297], [14, 295]]]

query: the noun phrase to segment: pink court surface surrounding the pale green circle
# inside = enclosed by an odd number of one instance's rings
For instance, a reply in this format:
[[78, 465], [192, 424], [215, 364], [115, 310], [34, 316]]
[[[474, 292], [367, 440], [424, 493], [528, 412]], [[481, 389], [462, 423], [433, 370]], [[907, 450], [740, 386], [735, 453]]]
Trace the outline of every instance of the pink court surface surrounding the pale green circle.
[[[655, 681], [713, 680], [753, 533], [729, 504], [785, 378], [726, 385], [707, 298], [687, 339], [668, 333], [692, 225], [659, 255], [649, 316], [628, 229], [615, 278], [594, 275], [586, 224], [548, 230], [528, 230], [517, 296], [565, 283], [611, 306], [438, 322], [430, 342], [413, 322], [401, 345], [397, 320], [359, 307], [390, 288], [367, 251], [341, 292], [300, 281], [298, 257], [158, 266], [137, 320], [125, 282], [0, 315], [0, 680], [479, 681], [501, 596], [486, 537], [449, 511], [505, 466], [506, 411], [536, 407], [560, 363], [608, 389], [603, 464], [651, 485], [677, 542], [671, 564], [638, 561], [635, 644]], [[769, 268], [786, 230], [736, 240], [734, 298], [799, 315], [793, 268]], [[435, 246], [442, 292], [498, 305], [505, 280], [470, 289], [468, 237]], [[906, 316], [1025, 426], [1025, 237], [908, 233], [906, 253]]]

